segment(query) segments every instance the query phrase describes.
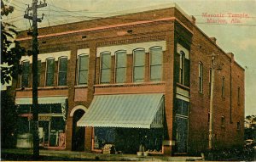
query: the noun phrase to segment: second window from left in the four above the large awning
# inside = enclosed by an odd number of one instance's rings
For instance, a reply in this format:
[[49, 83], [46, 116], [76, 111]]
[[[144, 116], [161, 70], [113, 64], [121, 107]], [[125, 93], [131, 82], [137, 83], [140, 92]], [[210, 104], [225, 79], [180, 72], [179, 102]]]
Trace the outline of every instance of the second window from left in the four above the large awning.
[[115, 82], [123, 83], [126, 79], [126, 52], [117, 51], [115, 61]]

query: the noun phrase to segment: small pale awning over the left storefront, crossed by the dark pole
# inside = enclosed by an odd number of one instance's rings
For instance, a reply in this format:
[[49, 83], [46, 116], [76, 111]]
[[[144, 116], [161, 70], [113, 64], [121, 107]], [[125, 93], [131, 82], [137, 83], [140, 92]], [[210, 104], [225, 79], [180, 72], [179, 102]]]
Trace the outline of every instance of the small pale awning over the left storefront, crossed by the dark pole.
[[[66, 103], [67, 97], [39, 97], [38, 104]], [[15, 98], [15, 104], [32, 104], [32, 98]]]

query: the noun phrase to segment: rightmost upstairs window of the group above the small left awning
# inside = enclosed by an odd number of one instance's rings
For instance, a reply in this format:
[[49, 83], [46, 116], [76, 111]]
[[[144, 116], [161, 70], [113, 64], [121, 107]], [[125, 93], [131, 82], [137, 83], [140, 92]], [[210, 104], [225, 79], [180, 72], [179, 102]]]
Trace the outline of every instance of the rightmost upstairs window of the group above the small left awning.
[[67, 58], [59, 59], [59, 75], [58, 75], [58, 85], [67, 85]]

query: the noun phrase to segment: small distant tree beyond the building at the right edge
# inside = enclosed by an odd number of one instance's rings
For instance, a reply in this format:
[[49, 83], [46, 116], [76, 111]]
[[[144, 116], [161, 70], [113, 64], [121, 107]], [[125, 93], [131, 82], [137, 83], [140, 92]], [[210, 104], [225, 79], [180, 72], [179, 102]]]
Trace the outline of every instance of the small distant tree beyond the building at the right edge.
[[245, 139], [256, 139], [256, 115], [248, 115], [245, 118]]

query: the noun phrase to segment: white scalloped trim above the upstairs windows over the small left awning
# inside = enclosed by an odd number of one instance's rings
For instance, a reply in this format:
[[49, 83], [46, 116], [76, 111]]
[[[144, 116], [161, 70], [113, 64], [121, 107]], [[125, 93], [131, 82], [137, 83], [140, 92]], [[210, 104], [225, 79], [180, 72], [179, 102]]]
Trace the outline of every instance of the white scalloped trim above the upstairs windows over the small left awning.
[[[70, 53], [71, 51], [61, 51], [61, 52], [55, 52], [55, 53], [39, 53], [38, 59], [41, 59], [41, 63], [44, 63], [48, 58], [55, 58], [55, 61], [58, 61], [60, 57], [66, 56], [68, 60], [70, 59]], [[32, 63], [32, 56], [22, 56], [20, 59], [20, 63], [26, 59], [28, 59], [29, 62]]]

